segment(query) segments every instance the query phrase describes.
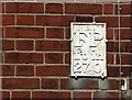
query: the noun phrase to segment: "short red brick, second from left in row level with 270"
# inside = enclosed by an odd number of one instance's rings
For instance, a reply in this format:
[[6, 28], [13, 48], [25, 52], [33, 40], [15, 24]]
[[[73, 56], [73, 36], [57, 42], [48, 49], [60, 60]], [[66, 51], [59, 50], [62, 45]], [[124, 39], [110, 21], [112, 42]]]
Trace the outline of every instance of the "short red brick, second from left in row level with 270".
[[34, 66], [16, 66], [16, 76], [33, 76]]

